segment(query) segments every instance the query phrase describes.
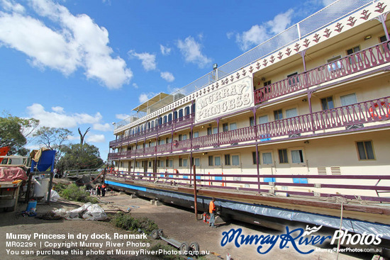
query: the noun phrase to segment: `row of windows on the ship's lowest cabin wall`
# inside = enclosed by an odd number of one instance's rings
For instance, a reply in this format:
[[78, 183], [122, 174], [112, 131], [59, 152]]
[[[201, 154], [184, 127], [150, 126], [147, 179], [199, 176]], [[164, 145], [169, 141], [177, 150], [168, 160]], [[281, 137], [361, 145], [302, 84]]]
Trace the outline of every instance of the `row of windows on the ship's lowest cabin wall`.
[[[375, 159], [374, 148], [372, 145], [372, 141], [360, 141], [356, 142], [357, 147], [357, 155], [360, 160], [371, 160]], [[301, 164], [304, 162], [303, 159], [303, 150], [302, 149], [291, 149], [291, 163], [293, 164]], [[287, 149], [278, 149], [277, 155], [279, 157], [279, 164], [288, 164], [289, 157], [287, 156]], [[260, 157], [261, 154], [261, 157]], [[240, 166], [240, 155], [239, 154], [224, 154], [225, 164], [226, 166]], [[193, 164], [195, 166], [201, 166], [200, 158], [194, 158]], [[189, 159], [179, 158], [179, 167], [187, 167]], [[256, 152], [252, 152], [252, 163], [257, 164], [273, 164], [274, 161], [272, 159], [272, 152], [259, 152], [257, 153], [256, 160]], [[152, 161], [143, 161], [143, 162], [135, 162], [136, 167], [144, 167], [146, 163], [149, 164], [149, 167], [152, 167]], [[121, 166], [123, 167], [123, 162], [121, 162]], [[208, 156], [208, 166], [221, 166], [221, 156]], [[131, 167], [131, 161], [130, 161]], [[157, 167], [173, 167], [173, 159], [166, 160], [157, 160]]]

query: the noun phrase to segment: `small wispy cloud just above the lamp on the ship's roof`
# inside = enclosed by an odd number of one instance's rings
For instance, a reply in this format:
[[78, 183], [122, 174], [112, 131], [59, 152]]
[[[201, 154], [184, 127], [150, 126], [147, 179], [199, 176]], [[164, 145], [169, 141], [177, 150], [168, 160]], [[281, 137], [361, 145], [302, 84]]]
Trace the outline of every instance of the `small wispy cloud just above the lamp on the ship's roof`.
[[201, 53], [201, 44], [197, 43], [191, 36], [184, 41], [178, 40], [177, 47], [182, 52], [186, 62], [198, 64], [200, 68], [204, 68], [211, 63], [211, 59]]

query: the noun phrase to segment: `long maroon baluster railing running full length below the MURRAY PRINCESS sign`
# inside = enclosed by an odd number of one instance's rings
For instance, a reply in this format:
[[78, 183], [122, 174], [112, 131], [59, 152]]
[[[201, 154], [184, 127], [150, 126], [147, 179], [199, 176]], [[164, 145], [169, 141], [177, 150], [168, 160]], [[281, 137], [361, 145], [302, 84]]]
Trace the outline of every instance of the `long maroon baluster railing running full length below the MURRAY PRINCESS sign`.
[[[260, 125], [239, 128], [219, 134], [205, 135], [194, 139], [173, 141], [172, 144], [145, 147], [143, 149], [108, 154], [108, 159], [141, 157], [165, 152], [187, 151], [221, 145], [234, 145], [253, 140], [269, 141], [272, 137], [291, 137], [318, 130], [345, 131], [350, 128], [362, 128], [364, 123], [380, 122], [390, 119], [389, 97], [341, 106], [316, 113], [299, 115]], [[380, 127], [380, 125], [379, 125]], [[344, 128], [344, 129], [336, 129]]]

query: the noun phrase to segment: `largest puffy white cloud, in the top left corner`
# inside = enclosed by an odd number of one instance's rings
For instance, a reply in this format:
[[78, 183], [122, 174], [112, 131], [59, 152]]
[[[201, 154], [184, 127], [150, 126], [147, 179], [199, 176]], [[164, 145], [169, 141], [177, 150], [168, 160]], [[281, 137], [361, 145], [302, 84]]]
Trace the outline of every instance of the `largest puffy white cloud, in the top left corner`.
[[[8, 4], [11, 1], [2, 1]], [[111, 57], [108, 31], [98, 26], [87, 15], [74, 16], [65, 6], [50, 0], [29, 1], [33, 10], [49, 18], [52, 28], [31, 16], [23, 15], [24, 7], [13, 4], [0, 12], [0, 43], [28, 55], [30, 64], [44, 69], [56, 69], [66, 76], [84, 69], [88, 79], [95, 79], [108, 87], [118, 89], [128, 84], [133, 73], [121, 57]]]

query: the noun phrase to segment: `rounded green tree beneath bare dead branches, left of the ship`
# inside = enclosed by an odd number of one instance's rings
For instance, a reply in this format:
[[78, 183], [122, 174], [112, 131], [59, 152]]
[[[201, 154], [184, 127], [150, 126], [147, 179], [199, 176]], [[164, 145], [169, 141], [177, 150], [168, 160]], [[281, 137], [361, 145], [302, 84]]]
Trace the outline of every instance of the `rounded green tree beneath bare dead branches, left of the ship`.
[[104, 163], [100, 158], [99, 148], [87, 143], [67, 145], [62, 152], [63, 156], [57, 163], [61, 172], [68, 169], [94, 169]]

